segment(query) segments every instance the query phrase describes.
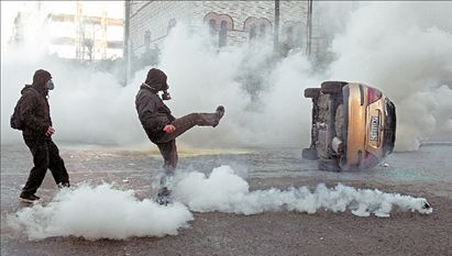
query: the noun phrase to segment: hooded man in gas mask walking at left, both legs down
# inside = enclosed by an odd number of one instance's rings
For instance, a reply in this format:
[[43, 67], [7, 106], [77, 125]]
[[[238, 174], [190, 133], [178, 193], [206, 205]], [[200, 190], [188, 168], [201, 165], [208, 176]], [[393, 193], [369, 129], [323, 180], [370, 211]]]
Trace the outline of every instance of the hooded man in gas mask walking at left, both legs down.
[[58, 188], [69, 187], [69, 176], [64, 160], [52, 141], [55, 130], [52, 125], [47, 97], [48, 90], [53, 89], [51, 74], [43, 69], [36, 70], [33, 84], [25, 85], [22, 89], [22, 96], [11, 118], [11, 124], [20, 123], [19, 127], [14, 127], [22, 130], [23, 140], [33, 155], [34, 167], [20, 194], [24, 202], [40, 200], [35, 193], [44, 180], [47, 168], [51, 169]]

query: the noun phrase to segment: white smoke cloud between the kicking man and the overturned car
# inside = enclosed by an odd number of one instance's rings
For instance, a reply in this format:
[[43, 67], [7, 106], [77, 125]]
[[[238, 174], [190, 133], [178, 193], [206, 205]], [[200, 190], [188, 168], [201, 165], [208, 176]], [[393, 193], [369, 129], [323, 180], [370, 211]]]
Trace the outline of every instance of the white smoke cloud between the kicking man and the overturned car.
[[[208, 40], [194, 36], [185, 26], [174, 29], [161, 57], [174, 98], [168, 105], [176, 116], [212, 111], [218, 104], [227, 109], [221, 125], [213, 131], [190, 131], [184, 135], [186, 142], [236, 147], [299, 146], [300, 141], [308, 141], [310, 132], [301, 126], [310, 125], [311, 102], [302, 98], [302, 90], [319, 85], [320, 79], [312, 78], [302, 54], [291, 55], [267, 70], [265, 62], [276, 62], [272, 47], [261, 43], [218, 53]], [[244, 90], [249, 81], [240, 79], [253, 73], [263, 77], [257, 99]]]

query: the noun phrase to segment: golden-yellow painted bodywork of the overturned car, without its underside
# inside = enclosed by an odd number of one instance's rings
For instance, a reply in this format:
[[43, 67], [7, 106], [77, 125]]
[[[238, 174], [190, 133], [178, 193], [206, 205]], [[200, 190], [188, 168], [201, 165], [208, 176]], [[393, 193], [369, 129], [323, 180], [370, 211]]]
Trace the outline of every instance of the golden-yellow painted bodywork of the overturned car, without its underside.
[[[371, 92], [373, 90], [373, 92]], [[396, 113], [394, 103], [379, 90], [363, 84], [349, 84], [343, 89], [346, 111], [345, 155], [342, 169], [366, 169], [378, 164], [394, 149]], [[370, 98], [371, 93], [376, 97]]]

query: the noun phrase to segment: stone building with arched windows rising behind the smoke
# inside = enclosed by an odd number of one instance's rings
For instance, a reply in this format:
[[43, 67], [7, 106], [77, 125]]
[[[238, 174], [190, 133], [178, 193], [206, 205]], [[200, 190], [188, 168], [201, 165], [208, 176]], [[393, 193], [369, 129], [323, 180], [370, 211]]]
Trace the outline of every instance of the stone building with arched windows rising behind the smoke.
[[[278, 47], [305, 49], [308, 1], [279, 1]], [[140, 57], [162, 44], [173, 26], [183, 22], [210, 33], [218, 47], [243, 45], [254, 38], [275, 37], [275, 1], [126, 1], [125, 51]], [[321, 36], [313, 30], [313, 52]]]

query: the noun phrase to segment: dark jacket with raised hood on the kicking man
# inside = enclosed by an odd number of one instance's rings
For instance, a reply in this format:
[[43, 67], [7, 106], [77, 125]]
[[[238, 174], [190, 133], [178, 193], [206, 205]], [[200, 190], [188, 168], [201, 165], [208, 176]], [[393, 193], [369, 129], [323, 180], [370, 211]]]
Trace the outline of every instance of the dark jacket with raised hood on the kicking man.
[[170, 124], [175, 118], [169, 108], [163, 103], [158, 91], [168, 89], [166, 75], [158, 69], [151, 69], [146, 82], [141, 85], [135, 98], [135, 108], [141, 124], [148, 138], [155, 143], [165, 132], [163, 127]]

